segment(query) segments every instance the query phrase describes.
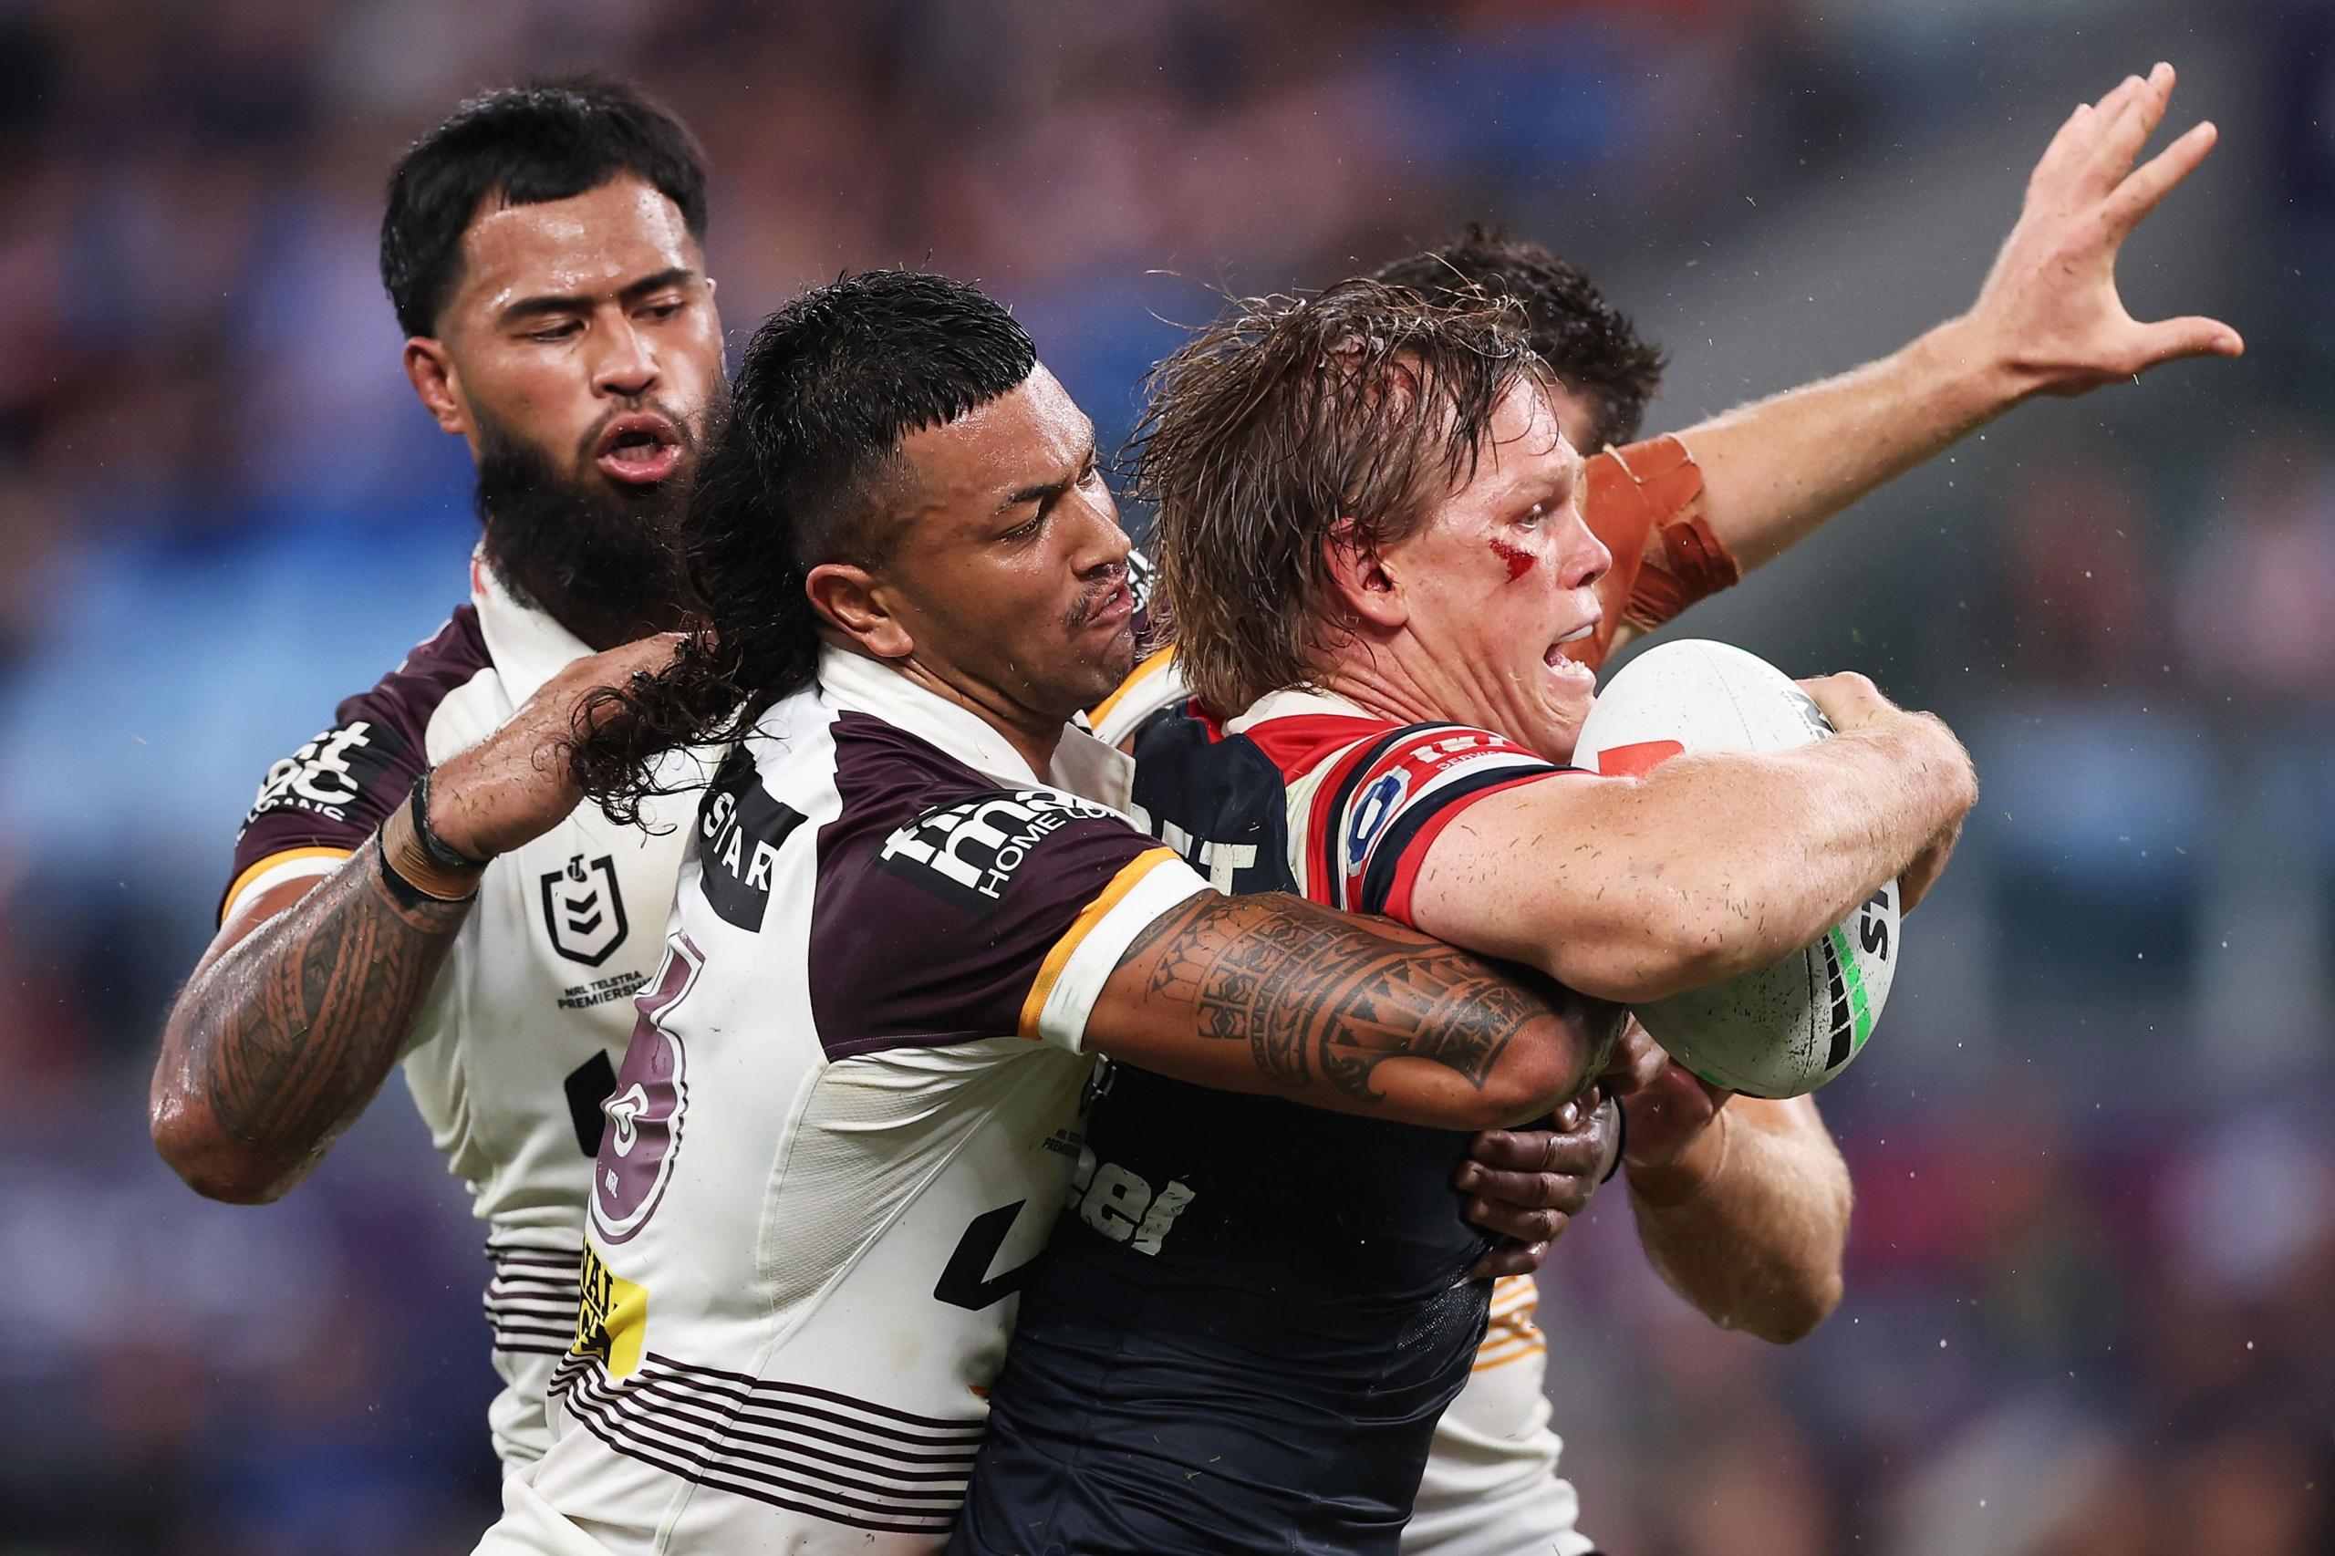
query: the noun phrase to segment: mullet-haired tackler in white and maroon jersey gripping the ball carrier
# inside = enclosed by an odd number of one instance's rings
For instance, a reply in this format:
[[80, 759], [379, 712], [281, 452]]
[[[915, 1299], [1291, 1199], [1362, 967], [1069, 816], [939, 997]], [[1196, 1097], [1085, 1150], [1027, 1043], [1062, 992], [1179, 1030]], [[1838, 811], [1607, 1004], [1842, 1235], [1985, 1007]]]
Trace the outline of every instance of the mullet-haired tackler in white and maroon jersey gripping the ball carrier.
[[[771, 315], [682, 542], [703, 626], [572, 769], [621, 813], [738, 745], [607, 1103], [556, 1442], [481, 1549], [929, 1549], [1090, 1051], [1441, 1128], [1604, 1063], [1611, 1007], [1224, 897], [1111, 808], [1130, 764], [1069, 720], [1135, 661], [1128, 540], [981, 292], [873, 271]], [[1191, 1210], [1123, 1206], [1153, 1241]]]

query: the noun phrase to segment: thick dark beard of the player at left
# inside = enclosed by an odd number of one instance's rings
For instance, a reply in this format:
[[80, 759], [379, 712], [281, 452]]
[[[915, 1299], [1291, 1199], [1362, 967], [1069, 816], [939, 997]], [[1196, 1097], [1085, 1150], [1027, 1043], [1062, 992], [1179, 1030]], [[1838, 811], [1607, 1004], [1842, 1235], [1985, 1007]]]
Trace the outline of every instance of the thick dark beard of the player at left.
[[521, 605], [542, 610], [586, 647], [605, 650], [682, 624], [677, 521], [696, 446], [682, 428], [682, 467], [656, 486], [616, 486], [598, 472], [563, 474], [542, 449], [472, 411], [479, 423], [479, 521], [486, 561]]

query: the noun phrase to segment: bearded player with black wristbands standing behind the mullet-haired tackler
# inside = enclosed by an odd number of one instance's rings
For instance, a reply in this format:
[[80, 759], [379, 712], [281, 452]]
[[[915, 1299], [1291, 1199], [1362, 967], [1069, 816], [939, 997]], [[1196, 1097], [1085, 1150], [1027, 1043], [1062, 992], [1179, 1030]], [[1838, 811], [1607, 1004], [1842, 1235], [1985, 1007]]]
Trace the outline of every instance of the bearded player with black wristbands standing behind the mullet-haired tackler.
[[[705, 220], [689, 131], [607, 79], [486, 93], [399, 159], [381, 273], [418, 397], [476, 456], [472, 598], [269, 769], [154, 1068], [163, 1159], [262, 1203], [404, 1063], [488, 1224], [507, 1470], [549, 1444], [602, 1100], [686, 841], [579, 808], [537, 752], [670, 652], [628, 640], [679, 619], [670, 530], [722, 388]], [[1539, 1161], [1539, 1135], [1492, 1142]], [[1532, 1203], [1483, 1215], [1515, 1231], [1571, 1180], [1504, 1185]]]

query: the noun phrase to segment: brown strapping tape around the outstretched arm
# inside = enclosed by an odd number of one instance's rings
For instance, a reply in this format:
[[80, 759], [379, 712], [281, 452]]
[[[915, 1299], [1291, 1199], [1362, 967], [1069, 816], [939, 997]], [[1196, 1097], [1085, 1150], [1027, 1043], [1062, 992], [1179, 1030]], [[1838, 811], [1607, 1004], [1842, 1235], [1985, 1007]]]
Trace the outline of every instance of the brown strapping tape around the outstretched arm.
[[1702, 470], [1677, 437], [1606, 449], [1583, 474], [1583, 519], [1613, 554], [1613, 568], [1597, 584], [1604, 619], [1567, 652], [1599, 666], [1623, 621], [1663, 626], [1695, 600], [1737, 584], [1742, 568], [1705, 523]]

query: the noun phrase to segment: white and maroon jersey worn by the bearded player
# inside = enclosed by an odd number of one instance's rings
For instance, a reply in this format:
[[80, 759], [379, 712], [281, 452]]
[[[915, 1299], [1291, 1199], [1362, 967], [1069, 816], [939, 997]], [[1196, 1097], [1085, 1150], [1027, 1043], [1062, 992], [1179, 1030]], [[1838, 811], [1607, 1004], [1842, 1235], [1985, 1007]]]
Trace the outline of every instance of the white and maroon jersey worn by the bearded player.
[[[474, 561], [472, 603], [269, 769], [219, 921], [339, 869], [425, 766], [483, 741], [586, 652]], [[488, 1227], [486, 1318], [504, 1381], [488, 1423], [507, 1467], [551, 1444], [544, 1388], [574, 1336], [600, 1100], [633, 1033], [630, 995], [663, 953], [693, 804], [651, 801], [651, 820], [677, 822], [663, 832], [586, 804], [488, 864], [406, 1044], [413, 1103]]]

